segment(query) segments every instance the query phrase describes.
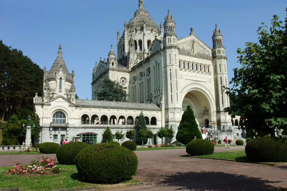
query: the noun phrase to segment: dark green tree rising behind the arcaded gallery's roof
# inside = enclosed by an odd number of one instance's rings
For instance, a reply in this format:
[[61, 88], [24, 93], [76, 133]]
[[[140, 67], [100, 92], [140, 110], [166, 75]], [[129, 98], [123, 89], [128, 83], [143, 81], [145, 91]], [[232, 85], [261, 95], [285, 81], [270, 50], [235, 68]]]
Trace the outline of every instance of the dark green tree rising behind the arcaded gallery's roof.
[[122, 86], [119, 82], [111, 80], [105, 76], [103, 80], [103, 87], [100, 91], [94, 91], [98, 100], [126, 102], [127, 87]]

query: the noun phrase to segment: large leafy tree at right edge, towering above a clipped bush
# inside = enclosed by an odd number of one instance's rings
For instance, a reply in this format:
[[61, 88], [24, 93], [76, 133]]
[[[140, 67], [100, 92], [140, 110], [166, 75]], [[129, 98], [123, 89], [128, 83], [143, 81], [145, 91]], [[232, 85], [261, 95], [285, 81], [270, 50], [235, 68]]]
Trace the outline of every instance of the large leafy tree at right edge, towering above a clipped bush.
[[258, 28], [259, 44], [247, 42], [244, 50], [237, 49], [241, 68], [233, 69], [233, 87], [226, 92], [232, 105], [225, 111], [240, 116], [240, 128], [255, 136], [287, 130], [286, 22], [281, 26], [274, 15], [269, 33], [264, 23]]

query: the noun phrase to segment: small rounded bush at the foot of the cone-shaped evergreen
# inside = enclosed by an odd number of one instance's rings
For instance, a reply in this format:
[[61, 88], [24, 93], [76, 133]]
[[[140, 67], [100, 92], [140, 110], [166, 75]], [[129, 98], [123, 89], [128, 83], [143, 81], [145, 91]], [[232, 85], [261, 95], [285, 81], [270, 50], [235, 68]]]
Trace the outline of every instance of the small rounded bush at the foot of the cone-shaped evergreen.
[[205, 139], [196, 139], [186, 145], [186, 152], [192, 156], [208, 155], [214, 152], [214, 145]]

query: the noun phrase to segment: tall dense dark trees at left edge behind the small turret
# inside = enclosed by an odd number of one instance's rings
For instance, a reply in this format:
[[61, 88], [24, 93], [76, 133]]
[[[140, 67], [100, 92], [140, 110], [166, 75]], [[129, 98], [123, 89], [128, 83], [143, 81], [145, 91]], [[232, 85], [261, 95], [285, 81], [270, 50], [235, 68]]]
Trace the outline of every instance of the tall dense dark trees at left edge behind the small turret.
[[0, 115], [9, 119], [20, 108], [33, 112], [35, 92], [40, 96], [43, 70], [21, 50], [11, 49], [0, 40]]

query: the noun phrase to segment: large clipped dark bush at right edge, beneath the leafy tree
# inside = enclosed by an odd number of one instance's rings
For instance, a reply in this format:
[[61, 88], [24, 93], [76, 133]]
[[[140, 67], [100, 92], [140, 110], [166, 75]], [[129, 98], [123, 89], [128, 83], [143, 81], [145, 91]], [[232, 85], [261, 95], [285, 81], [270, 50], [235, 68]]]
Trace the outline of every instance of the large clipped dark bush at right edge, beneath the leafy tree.
[[248, 141], [245, 153], [256, 162], [287, 162], [287, 141], [270, 136], [257, 137]]

